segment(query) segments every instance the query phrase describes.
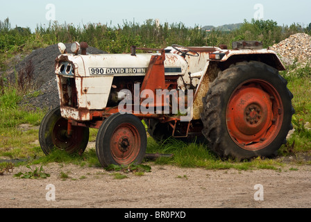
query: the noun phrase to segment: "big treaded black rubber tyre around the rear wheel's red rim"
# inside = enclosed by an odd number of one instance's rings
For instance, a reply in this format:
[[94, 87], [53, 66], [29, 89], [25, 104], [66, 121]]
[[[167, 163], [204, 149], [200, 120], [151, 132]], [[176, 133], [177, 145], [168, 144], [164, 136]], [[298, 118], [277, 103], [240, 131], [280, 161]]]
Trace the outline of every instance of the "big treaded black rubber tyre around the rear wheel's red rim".
[[[226, 108], [235, 89], [246, 80], [261, 79], [273, 85], [283, 103], [283, 122], [276, 138], [264, 148], [249, 151], [238, 146], [230, 137], [226, 125]], [[293, 95], [287, 89], [287, 81], [278, 74], [278, 70], [262, 62], [239, 62], [224, 71], [210, 85], [203, 98], [202, 133], [208, 140], [208, 147], [220, 157], [233, 157], [236, 160], [247, 160], [252, 157], [274, 157], [278, 148], [286, 143], [289, 130], [292, 129]]]

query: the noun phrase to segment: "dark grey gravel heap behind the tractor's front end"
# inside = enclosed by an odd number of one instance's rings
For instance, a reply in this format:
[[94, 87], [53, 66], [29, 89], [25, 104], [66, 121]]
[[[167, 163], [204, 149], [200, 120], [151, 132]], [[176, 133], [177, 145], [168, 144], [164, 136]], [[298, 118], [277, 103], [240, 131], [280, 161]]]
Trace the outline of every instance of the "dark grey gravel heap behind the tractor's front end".
[[[71, 44], [65, 44], [67, 51], [70, 52]], [[87, 48], [87, 53], [100, 54], [106, 53], [94, 47]], [[58, 45], [54, 44], [44, 49], [37, 49], [27, 56], [15, 67], [17, 73], [25, 69], [29, 61], [33, 64], [33, 83], [36, 85], [33, 94], [24, 96], [21, 105], [26, 105], [29, 110], [35, 108], [55, 108], [60, 104], [58, 99], [58, 88], [55, 74], [55, 59], [60, 55]]]

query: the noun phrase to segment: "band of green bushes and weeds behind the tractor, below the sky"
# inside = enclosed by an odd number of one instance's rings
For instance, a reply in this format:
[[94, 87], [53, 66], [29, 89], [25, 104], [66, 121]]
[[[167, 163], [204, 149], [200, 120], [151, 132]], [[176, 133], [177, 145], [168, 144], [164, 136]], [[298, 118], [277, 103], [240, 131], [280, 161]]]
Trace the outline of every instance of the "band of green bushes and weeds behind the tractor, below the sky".
[[148, 19], [144, 24], [125, 21], [118, 26], [107, 24], [58, 24], [54, 22], [47, 27], [37, 26], [35, 33], [29, 28], [11, 28], [9, 19], [0, 21], [0, 68], [6, 67], [6, 60], [20, 51], [32, 51], [58, 42], [87, 42], [108, 53], [130, 52], [131, 46], [162, 48], [171, 44], [184, 46], [215, 46], [227, 44], [231, 46], [236, 40], [261, 40], [264, 46], [280, 42], [289, 35], [298, 32], [310, 33], [309, 26], [299, 24], [278, 26], [272, 20], [244, 20], [244, 23], [232, 28], [233, 31], [214, 29], [210, 32], [203, 27], [188, 28], [184, 24], [157, 24]]

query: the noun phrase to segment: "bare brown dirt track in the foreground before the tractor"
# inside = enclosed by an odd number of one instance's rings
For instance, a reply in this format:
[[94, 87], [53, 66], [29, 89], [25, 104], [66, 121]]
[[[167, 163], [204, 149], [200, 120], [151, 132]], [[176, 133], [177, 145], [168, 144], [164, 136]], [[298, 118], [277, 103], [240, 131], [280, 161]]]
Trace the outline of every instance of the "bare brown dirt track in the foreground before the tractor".
[[[18, 179], [18, 167], [0, 176], [1, 208], [310, 208], [311, 166], [276, 170], [207, 170], [150, 164], [151, 172], [117, 180], [113, 172], [48, 164], [46, 179]], [[60, 178], [60, 173], [69, 178]], [[51, 192], [53, 185], [55, 200]], [[258, 186], [262, 185], [258, 188]], [[48, 186], [48, 187], [47, 187]], [[50, 187], [49, 187], [50, 186]], [[258, 198], [261, 198], [258, 200]], [[257, 200], [256, 200], [257, 199]]]

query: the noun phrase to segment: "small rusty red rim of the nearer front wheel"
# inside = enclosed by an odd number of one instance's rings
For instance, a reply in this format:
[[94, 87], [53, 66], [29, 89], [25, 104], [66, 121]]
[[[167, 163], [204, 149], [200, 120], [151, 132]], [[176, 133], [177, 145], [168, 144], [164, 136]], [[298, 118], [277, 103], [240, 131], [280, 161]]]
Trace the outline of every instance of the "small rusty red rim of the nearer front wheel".
[[140, 153], [140, 134], [131, 123], [122, 123], [112, 133], [110, 150], [118, 164], [131, 164]]

